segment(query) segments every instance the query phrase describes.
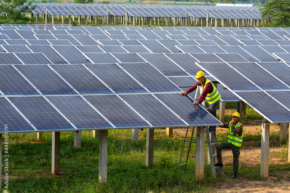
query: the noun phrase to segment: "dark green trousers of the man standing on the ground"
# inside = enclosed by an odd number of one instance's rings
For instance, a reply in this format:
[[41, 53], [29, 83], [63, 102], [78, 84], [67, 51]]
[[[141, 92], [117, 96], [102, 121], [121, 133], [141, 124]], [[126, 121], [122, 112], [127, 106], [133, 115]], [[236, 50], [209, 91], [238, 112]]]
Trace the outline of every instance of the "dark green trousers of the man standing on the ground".
[[231, 149], [232, 150], [233, 160], [234, 160], [233, 173], [238, 174], [240, 147], [237, 147], [229, 142], [224, 142], [224, 143], [218, 144], [215, 149], [217, 150], [218, 162], [222, 162], [222, 150], [223, 149]]

